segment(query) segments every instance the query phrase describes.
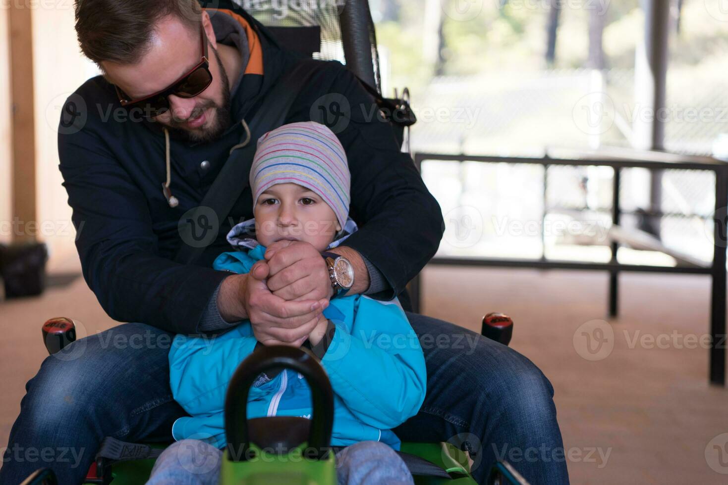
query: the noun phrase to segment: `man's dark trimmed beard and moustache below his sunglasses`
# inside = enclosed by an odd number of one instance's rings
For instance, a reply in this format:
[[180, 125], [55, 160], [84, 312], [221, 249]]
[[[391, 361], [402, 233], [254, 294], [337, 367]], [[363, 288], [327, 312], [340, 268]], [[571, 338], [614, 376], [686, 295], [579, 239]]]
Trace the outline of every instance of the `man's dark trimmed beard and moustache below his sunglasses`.
[[[232, 119], [232, 115], [230, 113], [230, 81], [220, 61], [218, 51], [212, 47], [210, 47], [210, 50], [212, 50], [213, 54], [215, 54], [215, 60], [217, 60], [218, 63], [218, 72], [220, 73], [220, 81], [223, 92], [222, 105], [217, 105], [213, 100], [204, 100], [202, 103], [195, 105], [192, 113], [186, 119], [175, 119], [173, 114], [170, 121], [167, 122], [167, 127], [170, 131], [191, 142], [207, 143], [217, 140], [221, 137], [223, 132], [225, 132], [227, 127], [230, 126], [230, 121]], [[215, 112], [215, 121], [212, 125], [210, 125], [210, 127], [203, 127], [202, 129], [194, 130], [183, 127], [187, 120], [195, 119], [200, 116], [203, 111], [210, 110]]]

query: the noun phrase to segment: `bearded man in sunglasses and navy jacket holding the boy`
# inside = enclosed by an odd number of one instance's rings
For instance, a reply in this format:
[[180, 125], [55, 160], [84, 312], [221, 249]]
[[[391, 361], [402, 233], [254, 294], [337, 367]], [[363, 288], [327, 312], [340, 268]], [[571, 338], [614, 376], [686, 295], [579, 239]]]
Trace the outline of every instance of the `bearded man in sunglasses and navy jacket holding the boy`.
[[[184, 415], [167, 369], [174, 334], [224, 332], [247, 318], [258, 341], [295, 343], [341, 291], [322, 255], [302, 241], [272, 245], [267, 264], [247, 275], [211, 268], [231, 225], [252, 217], [250, 188], [194, 264], [174, 260], [192, 242], [183, 241], [178, 223], [200, 204], [229, 153], [255, 143], [248, 122], [298, 55], [245, 12], [201, 12], [194, 0], [79, 0], [76, 32], [103, 71], [68, 98], [59, 128], [76, 246], [104, 310], [141, 323], [77, 340], [43, 362], [26, 386], [1, 484], [15, 485], [39, 466], [25, 459], [28, 450], [55, 450], [42, 465], [60, 483], [77, 484], [105, 436], [169, 441]], [[309, 121], [312, 106], [331, 93], [352, 107], [333, 131], [347, 153], [350, 216], [360, 230], [332, 252], [353, 272], [350, 293], [405, 300], [405, 284], [438, 248], [440, 208], [392, 127], [368, 119], [374, 100], [360, 81], [339, 63], [318, 64], [285, 123]], [[106, 116], [121, 108], [130, 116]], [[397, 436], [462, 443], [480, 483], [503, 453], [543, 449], [513, 465], [532, 484], [567, 483], [553, 388], [542, 372], [458, 326], [407, 316], [424, 350], [427, 396]], [[63, 460], [63, 449], [79, 460]]]

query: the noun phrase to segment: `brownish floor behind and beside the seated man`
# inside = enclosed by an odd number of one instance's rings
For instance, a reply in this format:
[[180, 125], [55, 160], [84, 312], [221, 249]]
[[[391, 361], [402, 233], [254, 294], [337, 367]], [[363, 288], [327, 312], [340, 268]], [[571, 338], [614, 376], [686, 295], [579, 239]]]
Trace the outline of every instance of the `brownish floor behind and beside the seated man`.
[[[726, 460], [713, 448], [728, 450], [728, 434], [721, 436], [728, 390], [708, 385], [708, 351], [700, 347], [708, 278], [622, 276], [620, 318], [609, 323], [599, 321], [606, 283], [601, 273], [432, 267], [423, 313], [471, 329], [488, 311], [513, 317], [511, 346], [555, 388], [572, 483], [728, 483], [719, 473], [728, 473]], [[71, 316], [88, 333], [114, 325], [82, 278], [40, 298], [0, 303], [1, 446], [25, 382], [46, 356], [40, 326], [52, 316]], [[603, 341], [597, 353], [587, 350], [587, 334]]]

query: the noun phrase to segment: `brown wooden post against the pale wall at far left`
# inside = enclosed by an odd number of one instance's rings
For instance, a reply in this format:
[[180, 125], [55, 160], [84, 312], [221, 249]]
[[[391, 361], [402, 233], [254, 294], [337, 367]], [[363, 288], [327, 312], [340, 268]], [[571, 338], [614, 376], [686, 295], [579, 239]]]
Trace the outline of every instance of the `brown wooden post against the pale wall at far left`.
[[[14, 241], [35, 239], [28, 223], [37, 222], [36, 137], [33, 104], [33, 23], [30, 0], [13, 1], [9, 9], [12, 228]], [[17, 219], [16, 219], [17, 218]]]

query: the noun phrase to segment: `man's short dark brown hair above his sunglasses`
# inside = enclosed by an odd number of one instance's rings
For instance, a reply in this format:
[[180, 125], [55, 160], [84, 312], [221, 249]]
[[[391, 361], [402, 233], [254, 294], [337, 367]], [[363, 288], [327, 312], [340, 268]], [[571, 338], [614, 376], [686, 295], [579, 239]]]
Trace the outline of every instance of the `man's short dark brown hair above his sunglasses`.
[[201, 12], [197, 0], [76, 0], [76, 35], [98, 65], [130, 64], [150, 49], [157, 21], [175, 15], [196, 30]]

